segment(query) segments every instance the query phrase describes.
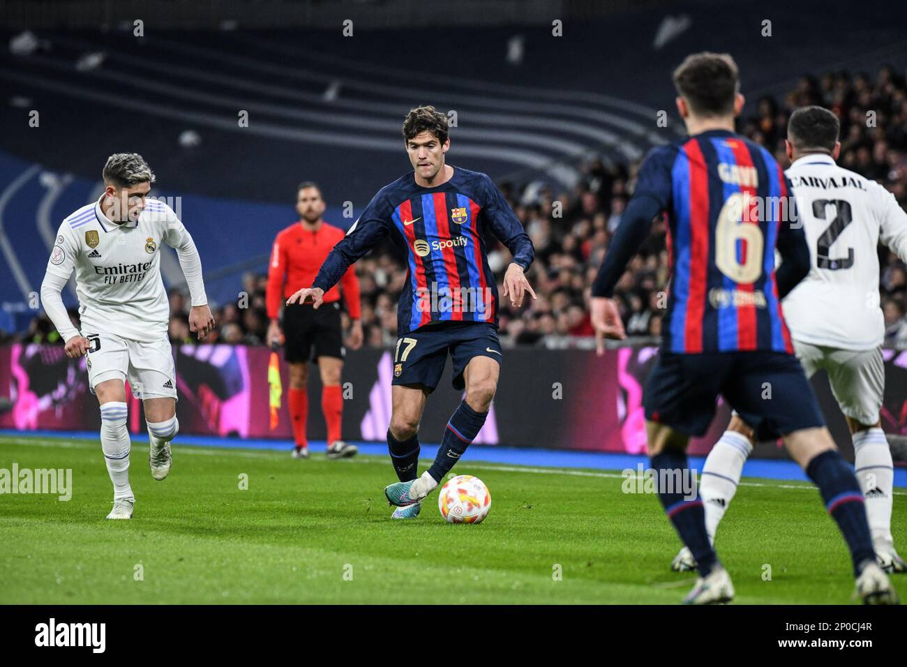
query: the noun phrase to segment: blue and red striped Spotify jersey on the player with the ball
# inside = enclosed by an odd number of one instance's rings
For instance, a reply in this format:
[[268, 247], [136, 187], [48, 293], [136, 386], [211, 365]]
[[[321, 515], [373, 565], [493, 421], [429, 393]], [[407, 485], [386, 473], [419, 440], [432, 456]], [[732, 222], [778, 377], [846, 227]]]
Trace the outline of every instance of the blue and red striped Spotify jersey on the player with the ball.
[[331, 250], [313, 287], [327, 292], [390, 233], [406, 253], [398, 335], [437, 321], [497, 326], [498, 289], [485, 252], [486, 230], [507, 246], [512, 261], [529, 269], [532, 241], [486, 174], [455, 167], [450, 181], [424, 188], [409, 172], [378, 191]]

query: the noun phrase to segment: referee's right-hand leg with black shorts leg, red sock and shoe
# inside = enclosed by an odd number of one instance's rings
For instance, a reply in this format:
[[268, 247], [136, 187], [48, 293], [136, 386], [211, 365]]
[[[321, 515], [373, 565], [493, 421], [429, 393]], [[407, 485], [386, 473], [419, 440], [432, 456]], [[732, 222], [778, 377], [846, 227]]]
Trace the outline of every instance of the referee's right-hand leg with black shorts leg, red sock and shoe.
[[340, 304], [325, 304], [317, 310], [316, 318], [315, 356], [321, 373], [321, 411], [327, 424], [327, 457], [356, 456], [359, 448], [347, 444], [341, 437], [343, 391], [340, 388], [340, 374], [346, 350], [343, 347]]

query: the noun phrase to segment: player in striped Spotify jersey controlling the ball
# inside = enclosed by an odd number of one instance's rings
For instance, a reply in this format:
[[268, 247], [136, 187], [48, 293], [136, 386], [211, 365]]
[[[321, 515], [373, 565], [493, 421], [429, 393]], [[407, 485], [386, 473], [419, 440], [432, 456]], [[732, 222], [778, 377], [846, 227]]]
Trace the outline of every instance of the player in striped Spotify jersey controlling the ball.
[[[387, 446], [399, 482], [387, 486], [394, 518], [414, 518], [422, 501], [463, 456], [488, 416], [502, 363], [498, 340], [498, 289], [484, 234], [511, 251], [503, 296], [515, 308], [535, 293], [525, 271], [532, 241], [501, 191], [480, 172], [445, 162], [447, 117], [433, 106], [411, 110], [403, 125], [413, 171], [382, 188], [327, 256], [310, 288], [288, 304], [313, 299], [318, 308], [347, 268], [391, 234], [406, 254], [407, 274], [397, 308], [392, 414]], [[448, 355], [453, 387], [465, 397], [453, 412], [434, 463], [417, 475], [418, 427]]]

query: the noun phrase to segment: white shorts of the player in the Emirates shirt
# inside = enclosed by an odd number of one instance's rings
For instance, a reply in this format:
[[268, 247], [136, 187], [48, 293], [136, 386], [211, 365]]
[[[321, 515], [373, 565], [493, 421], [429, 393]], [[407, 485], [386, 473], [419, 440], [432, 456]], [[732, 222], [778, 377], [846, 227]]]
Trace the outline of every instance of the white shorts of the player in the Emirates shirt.
[[137, 398], [176, 398], [176, 367], [170, 341], [143, 343], [109, 333], [83, 333], [88, 338], [88, 384], [111, 379], [128, 381]]

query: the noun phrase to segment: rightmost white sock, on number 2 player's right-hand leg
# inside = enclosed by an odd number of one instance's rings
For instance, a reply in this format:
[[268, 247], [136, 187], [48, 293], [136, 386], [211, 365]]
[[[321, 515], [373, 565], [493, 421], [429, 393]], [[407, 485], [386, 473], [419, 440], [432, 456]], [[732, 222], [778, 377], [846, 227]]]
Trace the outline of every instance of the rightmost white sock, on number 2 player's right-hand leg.
[[873, 546], [891, 549], [892, 492], [894, 465], [892, 450], [881, 428], [868, 428], [853, 434], [856, 477], [866, 499], [866, 517], [873, 534]]

